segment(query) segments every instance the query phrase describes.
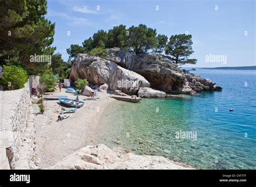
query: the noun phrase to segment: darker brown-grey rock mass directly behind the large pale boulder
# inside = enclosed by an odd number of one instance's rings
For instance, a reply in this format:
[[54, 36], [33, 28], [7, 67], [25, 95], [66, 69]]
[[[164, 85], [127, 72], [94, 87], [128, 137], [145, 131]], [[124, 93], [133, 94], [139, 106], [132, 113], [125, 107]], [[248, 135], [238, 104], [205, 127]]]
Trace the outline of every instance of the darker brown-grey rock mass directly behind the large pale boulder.
[[194, 93], [186, 77], [179, 72], [178, 65], [172, 63], [168, 56], [147, 53], [136, 55], [123, 50], [120, 50], [117, 56], [121, 59], [118, 63], [120, 66], [144, 76], [154, 89]]

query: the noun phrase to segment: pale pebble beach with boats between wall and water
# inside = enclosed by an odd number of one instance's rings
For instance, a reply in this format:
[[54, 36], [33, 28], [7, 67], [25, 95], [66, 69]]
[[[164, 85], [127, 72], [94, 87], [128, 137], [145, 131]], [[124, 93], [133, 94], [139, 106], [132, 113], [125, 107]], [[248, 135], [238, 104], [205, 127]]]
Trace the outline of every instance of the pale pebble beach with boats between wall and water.
[[[75, 99], [72, 93], [53, 92], [53, 95], [68, 95]], [[104, 108], [115, 99], [108, 93], [100, 92], [95, 99], [79, 96], [85, 104], [75, 113], [65, 114], [70, 116], [61, 122], [57, 122], [60, 106], [58, 100], [44, 100], [44, 114], [37, 114], [35, 118], [36, 128], [36, 153], [38, 155], [39, 168], [48, 168], [62, 160], [65, 156], [76, 150], [92, 145], [92, 136], [95, 133], [97, 121]], [[33, 109], [38, 112], [37, 104]]]

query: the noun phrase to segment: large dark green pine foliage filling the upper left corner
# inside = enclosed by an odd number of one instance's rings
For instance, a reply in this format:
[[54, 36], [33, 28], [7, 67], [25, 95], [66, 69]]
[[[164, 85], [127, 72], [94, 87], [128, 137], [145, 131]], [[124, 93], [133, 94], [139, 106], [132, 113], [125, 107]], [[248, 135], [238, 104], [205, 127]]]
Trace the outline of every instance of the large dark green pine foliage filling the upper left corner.
[[0, 3], [0, 65], [22, 64], [30, 74], [47, 63], [30, 62], [31, 55], [52, 55], [55, 24], [45, 19], [46, 0], [6, 0]]

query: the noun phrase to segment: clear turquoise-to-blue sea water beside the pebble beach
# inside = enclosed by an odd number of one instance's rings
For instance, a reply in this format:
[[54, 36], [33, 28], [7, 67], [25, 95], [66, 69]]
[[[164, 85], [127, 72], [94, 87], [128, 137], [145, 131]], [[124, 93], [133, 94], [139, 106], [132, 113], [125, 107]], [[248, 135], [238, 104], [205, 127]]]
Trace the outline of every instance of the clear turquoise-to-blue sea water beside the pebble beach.
[[[102, 114], [96, 142], [170, 157], [198, 169], [256, 169], [255, 71], [191, 72], [223, 90], [183, 95], [183, 100], [114, 102]], [[180, 130], [196, 132], [197, 139], [176, 139]]]

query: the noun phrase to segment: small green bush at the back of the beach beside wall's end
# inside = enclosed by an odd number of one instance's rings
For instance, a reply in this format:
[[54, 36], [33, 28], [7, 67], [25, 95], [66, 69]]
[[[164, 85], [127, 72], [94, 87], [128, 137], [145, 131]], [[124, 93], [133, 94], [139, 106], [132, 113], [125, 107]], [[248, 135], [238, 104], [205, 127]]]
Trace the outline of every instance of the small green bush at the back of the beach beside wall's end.
[[56, 87], [56, 77], [51, 70], [46, 70], [40, 77], [40, 82], [45, 84], [45, 91], [52, 91]]

